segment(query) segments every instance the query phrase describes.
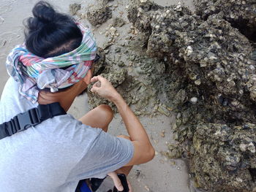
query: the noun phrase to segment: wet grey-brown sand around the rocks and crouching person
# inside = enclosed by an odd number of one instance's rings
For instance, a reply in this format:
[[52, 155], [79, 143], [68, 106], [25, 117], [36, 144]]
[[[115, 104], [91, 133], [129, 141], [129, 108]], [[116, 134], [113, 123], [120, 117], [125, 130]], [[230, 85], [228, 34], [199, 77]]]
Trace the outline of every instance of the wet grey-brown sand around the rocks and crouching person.
[[[23, 43], [23, 20], [31, 15], [31, 9], [34, 6], [34, 0], [1, 0], [0, 5], [0, 92], [4, 88], [4, 84], [9, 77], [5, 70], [5, 60], [7, 54], [12, 47]], [[68, 12], [69, 4], [80, 3], [81, 1], [50, 1], [61, 12]], [[157, 0], [157, 3], [167, 6], [170, 4], [177, 4], [178, 0]], [[84, 4], [92, 4], [94, 1], [82, 1]], [[118, 4], [118, 9], [113, 12], [113, 15], [118, 15], [118, 10], [124, 10], [127, 6], [127, 1], [113, 1], [112, 4]], [[193, 9], [192, 0], [184, 0], [184, 4], [187, 4]], [[125, 10], [124, 10], [125, 12]], [[126, 18], [127, 20], [127, 18]], [[84, 21], [86, 23], [86, 21]], [[102, 45], [105, 41], [105, 37], [99, 32], [102, 31], [110, 21], [107, 21], [99, 28], [94, 29], [94, 34], [97, 39], [98, 45]], [[128, 28], [130, 23], [127, 23], [124, 28]], [[87, 106], [86, 96], [78, 97], [75, 103], [72, 105], [69, 113], [79, 118], [89, 110]], [[192, 191], [189, 189], [189, 174], [187, 172], [187, 165], [184, 161], [170, 160], [160, 155], [159, 152], [167, 150], [166, 142], [171, 142], [172, 131], [171, 126], [175, 121], [175, 114], [166, 117], [159, 115], [154, 118], [143, 117], [140, 118], [143, 125], [148, 131], [148, 135], [151, 137], [151, 141], [157, 151], [153, 161], [148, 164], [134, 166], [129, 180], [132, 183], [133, 191], [157, 191], [157, 192], [187, 192]], [[161, 136], [162, 131], [165, 131], [165, 137]], [[116, 115], [109, 128], [110, 134], [127, 134], [119, 115]]]

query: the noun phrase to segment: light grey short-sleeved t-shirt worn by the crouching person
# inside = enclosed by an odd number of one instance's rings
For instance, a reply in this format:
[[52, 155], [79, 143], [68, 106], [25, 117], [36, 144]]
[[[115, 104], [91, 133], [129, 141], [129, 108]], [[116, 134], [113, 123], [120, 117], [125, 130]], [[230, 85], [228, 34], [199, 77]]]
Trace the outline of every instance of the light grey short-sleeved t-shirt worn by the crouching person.
[[[0, 123], [38, 104], [18, 93], [10, 78], [0, 103]], [[132, 142], [100, 128], [83, 125], [72, 115], [60, 115], [0, 139], [0, 191], [73, 192], [78, 181], [105, 177], [127, 164]]]

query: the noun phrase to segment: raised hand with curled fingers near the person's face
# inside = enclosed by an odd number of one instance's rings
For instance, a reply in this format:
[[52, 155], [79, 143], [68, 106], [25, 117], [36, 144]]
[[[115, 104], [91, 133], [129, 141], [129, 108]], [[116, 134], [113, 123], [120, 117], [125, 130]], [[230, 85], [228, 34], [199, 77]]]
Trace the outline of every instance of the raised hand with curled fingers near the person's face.
[[120, 96], [113, 85], [111, 85], [111, 82], [100, 75], [92, 77], [91, 82], [95, 82], [91, 88], [91, 92], [97, 93], [105, 99], [114, 101]]

